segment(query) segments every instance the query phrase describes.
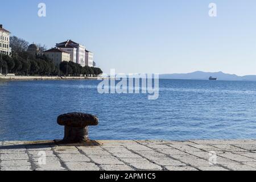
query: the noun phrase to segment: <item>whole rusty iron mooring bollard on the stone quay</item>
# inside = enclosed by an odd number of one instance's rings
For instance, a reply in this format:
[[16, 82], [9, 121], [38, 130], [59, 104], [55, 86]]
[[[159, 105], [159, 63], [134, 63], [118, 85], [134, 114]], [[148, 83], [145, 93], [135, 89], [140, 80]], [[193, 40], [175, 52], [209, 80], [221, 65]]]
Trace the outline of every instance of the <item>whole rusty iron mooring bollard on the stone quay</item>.
[[92, 114], [67, 113], [57, 118], [59, 125], [65, 126], [63, 143], [81, 143], [89, 140], [88, 127], [98, 125], [98, 118]]

